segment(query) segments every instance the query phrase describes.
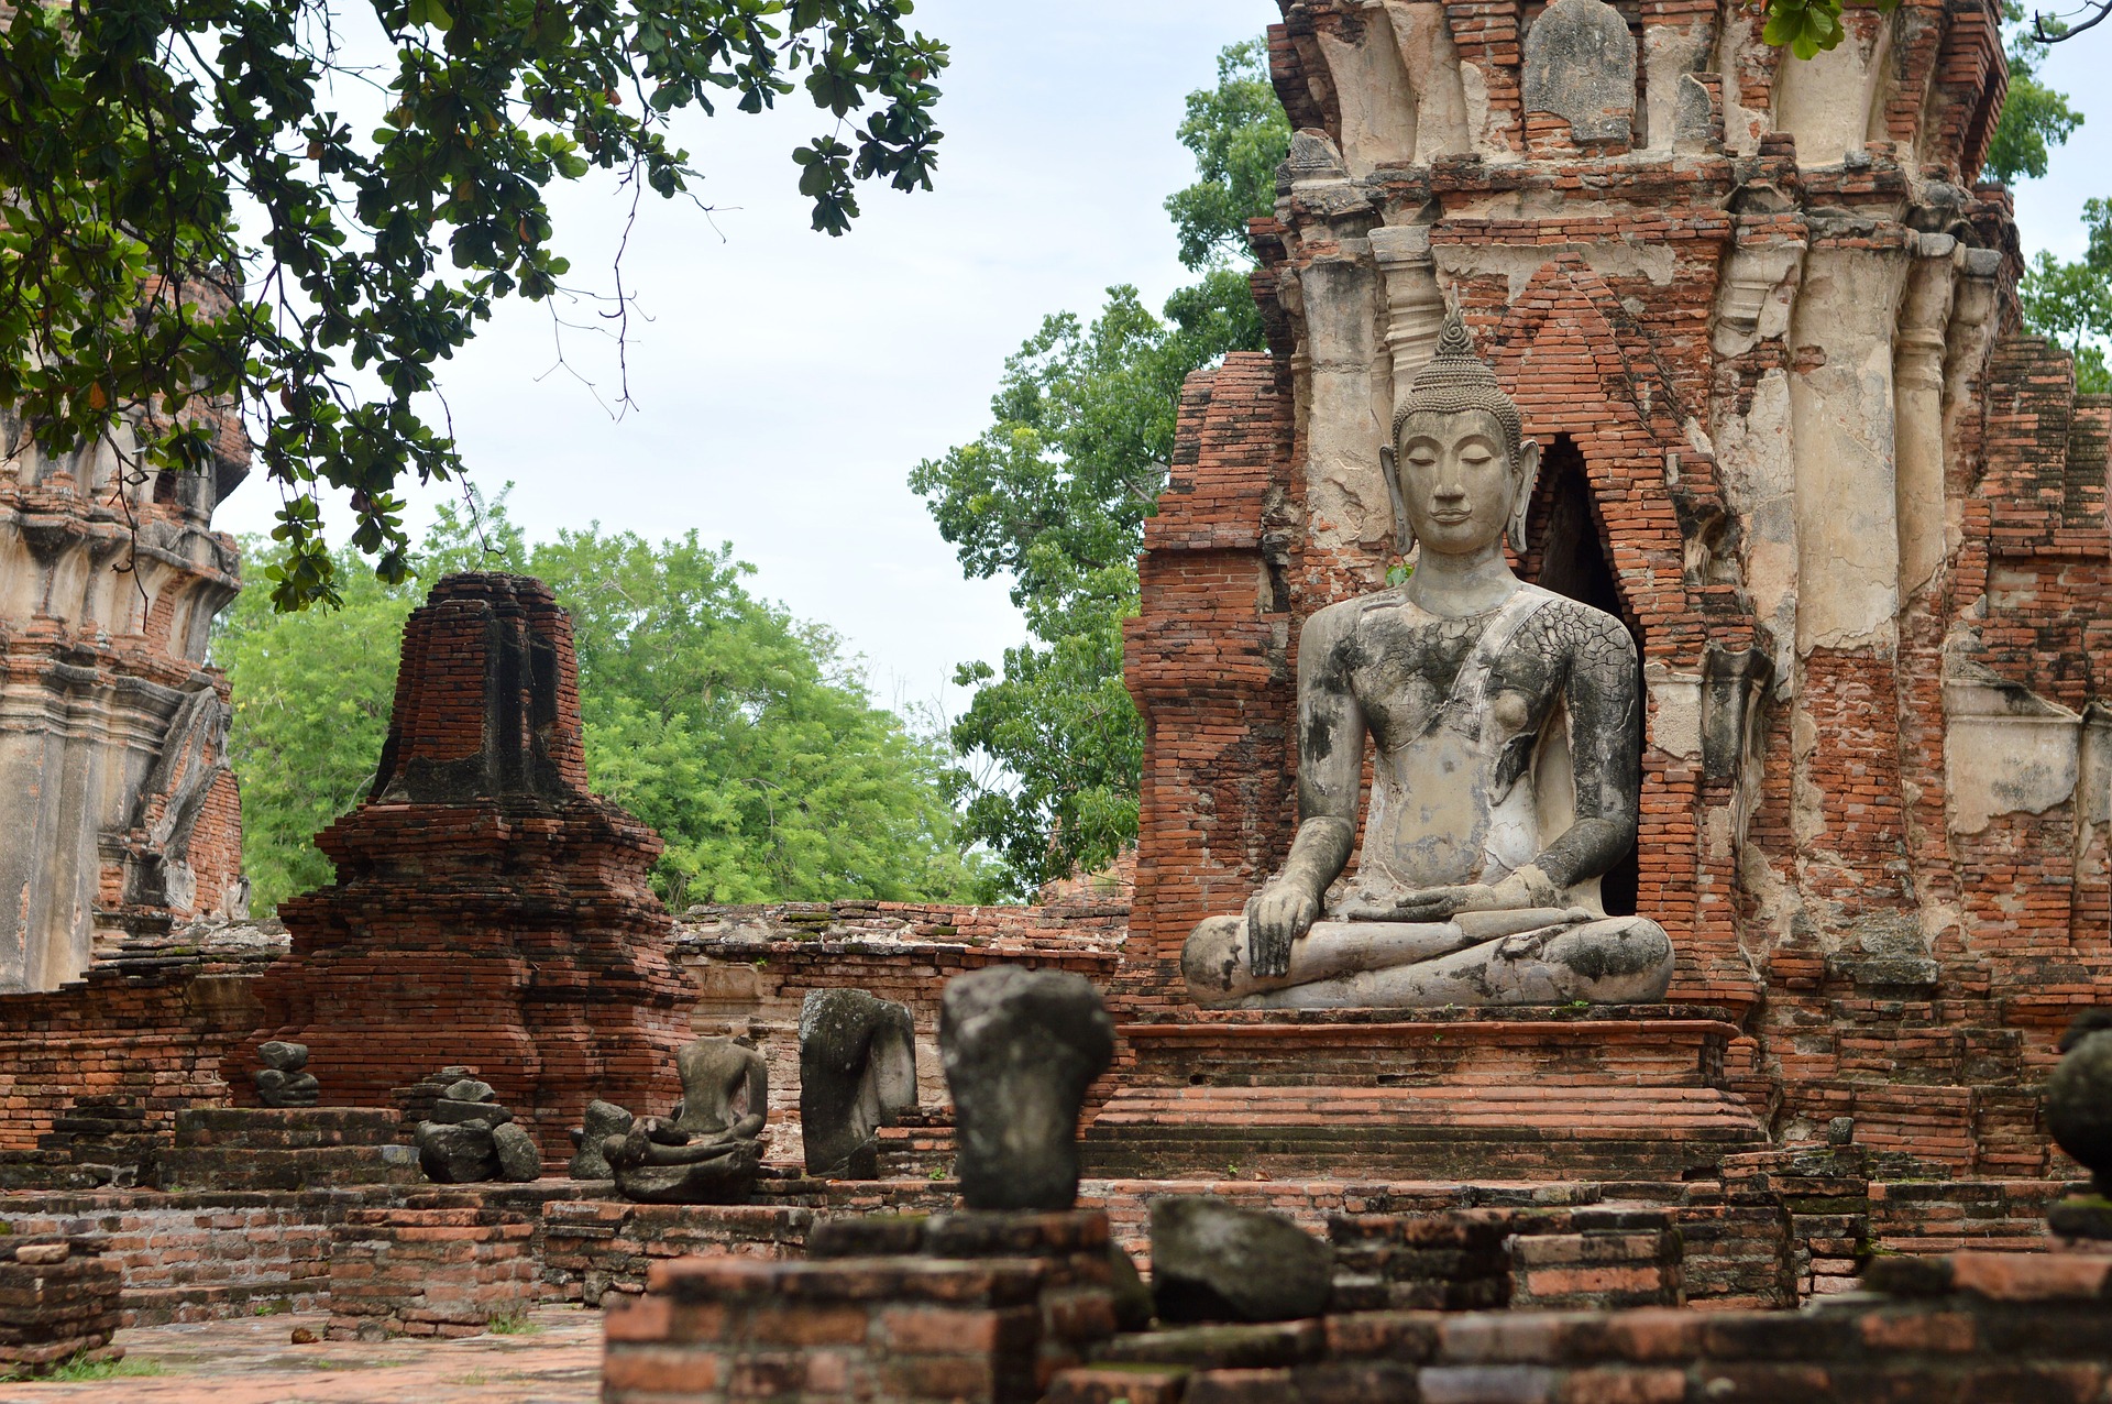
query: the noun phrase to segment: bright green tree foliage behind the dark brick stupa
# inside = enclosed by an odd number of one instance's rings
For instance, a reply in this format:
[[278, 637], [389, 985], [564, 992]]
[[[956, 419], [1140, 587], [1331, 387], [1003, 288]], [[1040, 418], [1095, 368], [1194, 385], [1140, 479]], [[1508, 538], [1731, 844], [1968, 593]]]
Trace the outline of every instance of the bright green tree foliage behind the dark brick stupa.
[[653, 880], [670, 904], [995, 895], [961, 855], [944, 745], [872, 705], [836, 635], [750, 595], [731, 547], [598, 528], [530, 545], [498, 502], [482, 532], [441, 511], [403, 583], [338, 557], [342, 608], [281, 614], [251, 591], [213, 642], [258, 910], [329, 880], [310, 836], [374, 779], [403, 619], [471, 568], [536, 574], [570, 610], [587, 773], [665, 838]]

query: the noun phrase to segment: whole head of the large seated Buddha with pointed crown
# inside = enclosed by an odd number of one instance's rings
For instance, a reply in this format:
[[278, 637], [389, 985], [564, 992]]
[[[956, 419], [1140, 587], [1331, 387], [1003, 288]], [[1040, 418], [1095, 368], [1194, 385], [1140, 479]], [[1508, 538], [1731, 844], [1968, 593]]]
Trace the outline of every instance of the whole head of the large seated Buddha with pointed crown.
[[1519, 405], [1474, 355], [1459, 312], [1445, 319], [1436, 355], [1409, 382], [1379, 460], [1402, 555], [1415, 543], [1470, 555], [1502, 545], [1506, 532], [1525, 551], [1540, 445], [1523, 437]]

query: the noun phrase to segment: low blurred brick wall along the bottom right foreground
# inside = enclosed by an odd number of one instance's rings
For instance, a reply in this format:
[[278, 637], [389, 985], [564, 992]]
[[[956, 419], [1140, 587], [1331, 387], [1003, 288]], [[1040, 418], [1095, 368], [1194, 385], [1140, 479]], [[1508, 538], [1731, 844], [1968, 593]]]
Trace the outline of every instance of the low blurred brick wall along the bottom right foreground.
[[[1048, 1404], [2099, 1404], [2112, 1258], [1901, 1258], [1821, 1311], [1369, 1311], [1111, 1341]], [[689, 1398], [689, 1396], [678, 1396]]]

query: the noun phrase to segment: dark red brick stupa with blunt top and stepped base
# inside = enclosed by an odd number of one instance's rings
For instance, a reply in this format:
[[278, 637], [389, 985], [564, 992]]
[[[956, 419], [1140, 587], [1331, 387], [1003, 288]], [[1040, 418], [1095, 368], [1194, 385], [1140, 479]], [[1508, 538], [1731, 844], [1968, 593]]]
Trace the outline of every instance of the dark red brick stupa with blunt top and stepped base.
[[285, 902], [264, 1039], [310, 1047], [325, 1100], [386, 1106], [469, 1064], [545, 1159], [589, 1098], [678, 1096], [682, 982], [646, 885], [659, 836], [587, 792], [572, 621], [513, 574], [444, 578], [403, 627], [374, 790], [317, 836], [338, 880]]

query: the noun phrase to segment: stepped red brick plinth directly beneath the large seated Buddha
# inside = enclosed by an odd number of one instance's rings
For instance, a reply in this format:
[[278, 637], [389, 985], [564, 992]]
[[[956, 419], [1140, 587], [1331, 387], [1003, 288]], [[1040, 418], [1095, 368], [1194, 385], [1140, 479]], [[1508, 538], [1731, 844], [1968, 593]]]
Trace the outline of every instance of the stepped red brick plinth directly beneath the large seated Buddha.
[[1086, 1174], [1554, 1180], [1706, 1174], [1766, 1132], [1713, 1018], [1130, 1024]]

